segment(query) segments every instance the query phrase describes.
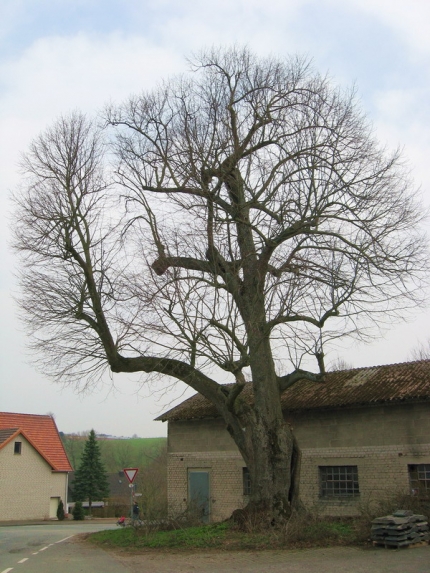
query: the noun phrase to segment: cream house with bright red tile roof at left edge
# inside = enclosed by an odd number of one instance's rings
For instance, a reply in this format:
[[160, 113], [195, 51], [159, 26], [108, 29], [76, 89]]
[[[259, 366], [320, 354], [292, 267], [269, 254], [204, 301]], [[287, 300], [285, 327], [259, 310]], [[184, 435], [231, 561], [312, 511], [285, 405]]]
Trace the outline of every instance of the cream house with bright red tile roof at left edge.
[[52, 416], [0, 412], [0, 521], [55, 518], [70, 471]]

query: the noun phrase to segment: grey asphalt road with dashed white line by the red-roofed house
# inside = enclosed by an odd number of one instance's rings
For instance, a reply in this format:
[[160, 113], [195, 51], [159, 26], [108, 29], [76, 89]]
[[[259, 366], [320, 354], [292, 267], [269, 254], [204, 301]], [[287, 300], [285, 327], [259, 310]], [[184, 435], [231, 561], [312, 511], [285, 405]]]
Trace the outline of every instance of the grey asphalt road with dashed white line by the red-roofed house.
[[0, 573], [128, 573], [113, 555], [76, 537], [115, 527], [86, 522], [0, 527]]

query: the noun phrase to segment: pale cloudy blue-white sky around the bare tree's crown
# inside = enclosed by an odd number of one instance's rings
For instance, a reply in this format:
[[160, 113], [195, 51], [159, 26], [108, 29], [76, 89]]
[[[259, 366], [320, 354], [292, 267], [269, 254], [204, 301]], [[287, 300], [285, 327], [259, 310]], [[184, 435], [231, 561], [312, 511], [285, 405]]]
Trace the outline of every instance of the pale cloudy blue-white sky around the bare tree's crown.
[[[20, 154], [38, 133], [61, 114], [91, 115], [186, 71], [186, 57], [205, 47], [300, 54], [333, 82], [355, 84], [377, 137], [404, 150], [429, 207], [429, 22], [428, 0], [1, 0], [0, 410], [53, 413], [64, 432], [153, 437], [167, 432], [154, 418], [190, 395], [126, 375], [80, 394], [32, 366], [13, 298], [10, 194]], [[371, 344], [345, 344], [338, 356], [353, 366], [403, 362], [428, 339], [430, 308]]]

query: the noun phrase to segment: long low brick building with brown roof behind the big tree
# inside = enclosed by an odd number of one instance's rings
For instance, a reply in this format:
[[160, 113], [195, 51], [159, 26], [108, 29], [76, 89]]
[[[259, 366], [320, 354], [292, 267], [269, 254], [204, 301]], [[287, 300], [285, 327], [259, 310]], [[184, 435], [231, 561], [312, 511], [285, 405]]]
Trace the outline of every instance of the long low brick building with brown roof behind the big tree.
[[[252, 402], [252, 386], [243, 399]], [[430, 495], [430, 361], [327, 374], [282, 395], [302, 451], [308, 507], [353, 515], [382, 496]], [[171, 512], [195, 500], [217, 521], [243, 507], [249, 473], [216, 408], [196, 394], [161, 415], [168, 422]]]

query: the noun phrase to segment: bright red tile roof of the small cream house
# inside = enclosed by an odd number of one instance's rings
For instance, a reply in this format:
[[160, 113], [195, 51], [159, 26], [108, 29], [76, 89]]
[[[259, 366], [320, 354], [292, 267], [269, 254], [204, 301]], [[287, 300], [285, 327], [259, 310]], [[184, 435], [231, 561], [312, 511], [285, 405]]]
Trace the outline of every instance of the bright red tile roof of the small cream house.
[[[22, 432], [54, 471], [72, 471], [72, 466], [52, 416], [0, 412], [0, 431], [12, 428]], [[5, 437], [3, 442], [0, 441], [0, 448], [10, 441], [14, 433], [9, 435], [9, 439]]]

